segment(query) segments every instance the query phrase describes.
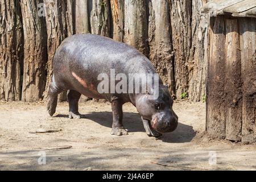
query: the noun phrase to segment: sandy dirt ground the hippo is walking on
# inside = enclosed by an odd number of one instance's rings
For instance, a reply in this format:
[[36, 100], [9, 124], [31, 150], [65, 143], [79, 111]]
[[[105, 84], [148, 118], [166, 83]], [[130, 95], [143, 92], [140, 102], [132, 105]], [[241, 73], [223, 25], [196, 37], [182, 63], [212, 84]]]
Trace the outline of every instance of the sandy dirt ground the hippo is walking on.
[[[179, 125], [159, 140], [146, 135], [133, 105], [125, 104], [123, 110], [129, 135], [117, 137], [110, 135], [108, 102], [80, 103], [81, 119], [68, 118], [67, 102], [58, 104], [54, 117], [48, 116], [44, 102], [0, 102], [0, 170], [256, 169], [256, 145], [200, 137], [203, 103], [176, 101]], [[44, 154], [46, 164], [40, 165]]]

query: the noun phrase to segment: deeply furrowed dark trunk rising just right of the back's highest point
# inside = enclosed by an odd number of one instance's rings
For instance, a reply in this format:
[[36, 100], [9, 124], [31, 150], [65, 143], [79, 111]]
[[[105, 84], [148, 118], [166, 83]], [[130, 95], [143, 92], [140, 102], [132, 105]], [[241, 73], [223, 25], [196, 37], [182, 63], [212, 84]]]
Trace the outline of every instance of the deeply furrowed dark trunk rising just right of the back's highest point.
[[90, 26], [92, 34], [110, 36], [109, 1], [92, 0]]

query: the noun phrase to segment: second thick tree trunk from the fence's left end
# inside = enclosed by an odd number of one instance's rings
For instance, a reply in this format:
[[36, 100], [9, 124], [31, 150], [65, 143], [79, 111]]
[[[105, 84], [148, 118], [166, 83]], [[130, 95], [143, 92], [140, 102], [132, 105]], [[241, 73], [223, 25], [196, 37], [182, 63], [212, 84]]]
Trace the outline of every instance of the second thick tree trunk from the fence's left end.
[[24, 72], [22, 101], [41, 100], [46, 85], [47, 34], [46, 20], [39, 16], [41, 0], [20, 0], [24, 31]]

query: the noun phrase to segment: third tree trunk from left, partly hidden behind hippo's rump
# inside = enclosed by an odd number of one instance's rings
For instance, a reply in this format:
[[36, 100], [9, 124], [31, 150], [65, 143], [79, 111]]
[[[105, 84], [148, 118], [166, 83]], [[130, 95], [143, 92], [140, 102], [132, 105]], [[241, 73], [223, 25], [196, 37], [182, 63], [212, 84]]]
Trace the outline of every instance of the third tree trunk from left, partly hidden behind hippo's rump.
[[[46, 10], [46, 26], [47, 26], [47, 84], [44, 98], [48, 97], [48, 87], [52, 78], [52, 60], [56, 49], [61, 42], [67, 37], [67, 21], [66, 21], [66, 5], [65, 1], [61, 0], [44, 0]], [[69, 27], [69, 31], [72, 31]], [[69, 33], [71, 34], [71, 33]], [[59, 101], [67, 100], [67, 92], [59, 95]]]

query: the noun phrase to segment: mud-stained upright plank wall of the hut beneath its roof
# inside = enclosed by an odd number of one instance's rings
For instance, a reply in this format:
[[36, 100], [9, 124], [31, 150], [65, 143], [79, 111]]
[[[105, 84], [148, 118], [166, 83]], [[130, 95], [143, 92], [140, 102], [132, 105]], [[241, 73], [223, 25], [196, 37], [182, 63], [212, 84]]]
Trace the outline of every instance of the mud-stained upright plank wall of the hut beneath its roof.
[[256, 18], [211, 18], [207, 70], [207, 132], [255, 142]]

